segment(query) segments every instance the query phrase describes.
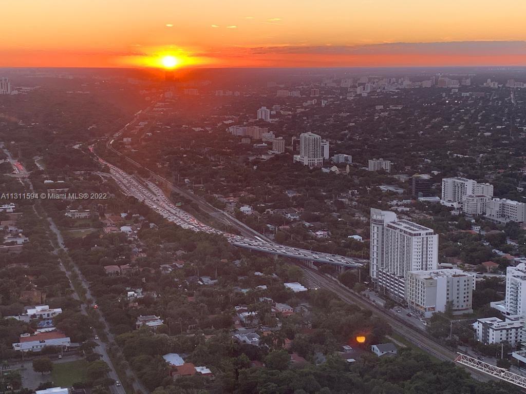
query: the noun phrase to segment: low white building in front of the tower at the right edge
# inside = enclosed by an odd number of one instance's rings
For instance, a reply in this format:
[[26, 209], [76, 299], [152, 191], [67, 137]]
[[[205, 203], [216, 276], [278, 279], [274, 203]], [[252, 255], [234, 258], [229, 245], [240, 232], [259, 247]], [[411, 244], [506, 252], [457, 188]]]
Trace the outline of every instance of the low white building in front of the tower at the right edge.
[[505, 320], [498, 317], [486, 317], [477, 319], [473, 327], [477, 340], [483, 344], [495, 345], [508, 342], [515, 347], [522, 340], [524, 317], [512, 316], [506, 317]]

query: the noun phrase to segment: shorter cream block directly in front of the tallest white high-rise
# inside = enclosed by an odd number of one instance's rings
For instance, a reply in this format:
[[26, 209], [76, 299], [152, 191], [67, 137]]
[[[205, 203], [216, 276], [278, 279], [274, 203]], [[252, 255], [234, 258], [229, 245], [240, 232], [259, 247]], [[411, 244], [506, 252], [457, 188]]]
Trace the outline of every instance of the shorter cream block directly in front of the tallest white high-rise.
[[406, 277], [406, 301], [411, 312], [424, 318], [446, 312], [453, 315], [472, 313], [475, 277], [460, 269], [409, 271]]

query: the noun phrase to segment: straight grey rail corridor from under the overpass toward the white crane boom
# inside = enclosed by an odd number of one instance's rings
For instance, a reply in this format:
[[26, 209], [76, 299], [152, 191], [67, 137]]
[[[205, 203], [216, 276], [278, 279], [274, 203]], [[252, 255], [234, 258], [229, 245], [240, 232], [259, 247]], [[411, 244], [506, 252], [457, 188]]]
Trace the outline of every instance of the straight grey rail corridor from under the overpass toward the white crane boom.
[[[392, 330], [399, 334], [400, 336], [406, 338], [414, 345], [417, 345], [419, 348], [425, 350], [428, 354], [438, 358], [442, 361], [453, 361], [457, 357], [457, 353], [449, 350], [446, 347], [435, 342], [432, 338], [421, 333], [421, 331], [414, 329], [404, 323], [399, 321], [396, 317], [392, 316], [385, 309], [378, 307], [377, 305], [372, 304], [366, 298], [362, 298], [357, 294], [351, 292], [347, 287], [339, 284], [338, 282], [329, 279], [328, 277], [320, 274], [319, 272], [313, 271], [306, 267], [301, 267], [305, 278], [312, 284], [315, 284], [316, 287], [326, 288], [331, 292], [337, 294], [344, 302], [352, 305], [358, 305], [360, 308], [368, 309], [376, 317], [381, 318], [387, 322]], [[464, 367], [465, 368], [465, 367]], [[474, 379], [479, 381], [488, 381], [492, 380], [492, 377], [484, 374], [483, 372], [473, 370], [471, 368], [466, 368], [468, 372]]]

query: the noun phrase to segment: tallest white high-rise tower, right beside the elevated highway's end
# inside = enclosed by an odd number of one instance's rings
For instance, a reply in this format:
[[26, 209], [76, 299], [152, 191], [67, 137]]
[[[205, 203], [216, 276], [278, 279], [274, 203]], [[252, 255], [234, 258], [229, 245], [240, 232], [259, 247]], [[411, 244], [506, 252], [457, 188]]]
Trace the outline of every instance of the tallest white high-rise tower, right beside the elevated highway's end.
[[405, 277], [409, 271], [438, 267], [438, 235], [428, 227], [371, 208], [370, 236], [371, 278], [395, 299], [406, 297]]

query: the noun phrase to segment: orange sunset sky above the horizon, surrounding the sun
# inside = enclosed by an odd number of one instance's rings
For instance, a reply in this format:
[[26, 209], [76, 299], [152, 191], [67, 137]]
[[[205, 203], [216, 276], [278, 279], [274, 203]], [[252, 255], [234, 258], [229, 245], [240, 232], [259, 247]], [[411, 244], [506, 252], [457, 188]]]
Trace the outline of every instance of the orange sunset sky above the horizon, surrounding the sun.
[[526, 66], [524, 0], [3, 0], [0, 67]]

